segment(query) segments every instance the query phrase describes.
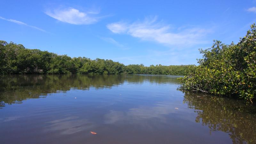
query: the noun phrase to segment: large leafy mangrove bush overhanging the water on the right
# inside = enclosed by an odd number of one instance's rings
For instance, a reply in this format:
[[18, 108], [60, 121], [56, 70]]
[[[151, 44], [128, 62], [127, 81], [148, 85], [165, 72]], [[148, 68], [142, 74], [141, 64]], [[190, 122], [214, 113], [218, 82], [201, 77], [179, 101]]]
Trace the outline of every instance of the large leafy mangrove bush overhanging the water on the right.
[[214, 41], [211, 48], [199, 51], [203, 54], [199, 65], [190, 65], [186, 75], [178, 78], [183, 83], [181, 89], [255, 101], [255, 23], [238, 44]]

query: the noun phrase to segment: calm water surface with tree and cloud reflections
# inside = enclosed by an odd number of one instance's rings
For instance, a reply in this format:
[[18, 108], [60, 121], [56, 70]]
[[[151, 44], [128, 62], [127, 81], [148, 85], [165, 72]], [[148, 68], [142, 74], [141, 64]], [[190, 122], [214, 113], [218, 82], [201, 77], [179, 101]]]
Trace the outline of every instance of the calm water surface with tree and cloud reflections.
[[0, 142], [256, 143], [255, 106], [179, 86], [177, 76], [0, 76]]

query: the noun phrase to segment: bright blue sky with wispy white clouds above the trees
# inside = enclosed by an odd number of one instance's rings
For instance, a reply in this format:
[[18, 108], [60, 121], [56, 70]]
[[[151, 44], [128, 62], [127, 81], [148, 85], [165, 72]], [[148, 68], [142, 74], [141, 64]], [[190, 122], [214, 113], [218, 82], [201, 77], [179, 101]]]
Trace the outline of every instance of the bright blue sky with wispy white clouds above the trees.
[[255, 0], [3, 0], [0, 40], [125, 65], [196, 64], [199, 48], [237, 43], [255, 20]]

